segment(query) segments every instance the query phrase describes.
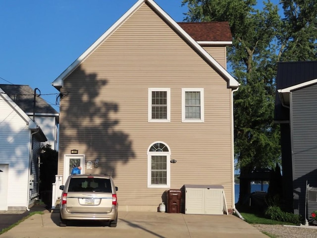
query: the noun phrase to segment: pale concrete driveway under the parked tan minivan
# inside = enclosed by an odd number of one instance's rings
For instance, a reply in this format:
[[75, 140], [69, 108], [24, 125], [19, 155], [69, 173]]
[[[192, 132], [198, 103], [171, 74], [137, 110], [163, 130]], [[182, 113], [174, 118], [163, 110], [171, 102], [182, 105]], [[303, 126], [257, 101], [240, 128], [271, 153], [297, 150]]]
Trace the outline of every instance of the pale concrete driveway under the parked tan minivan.
[[0, 238], [267, 238], [233, 215], [189, 215], [119, 212], [116, 228], [98, 222], [72, 222], [59, 227], [59, 213], [35, 214]]

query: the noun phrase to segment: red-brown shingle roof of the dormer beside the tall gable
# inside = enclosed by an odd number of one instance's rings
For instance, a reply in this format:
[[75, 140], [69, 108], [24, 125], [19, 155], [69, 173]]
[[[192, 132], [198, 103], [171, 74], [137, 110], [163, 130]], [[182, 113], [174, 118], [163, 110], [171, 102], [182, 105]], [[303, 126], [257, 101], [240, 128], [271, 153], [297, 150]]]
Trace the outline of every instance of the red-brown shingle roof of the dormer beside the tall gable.
[[195, 41], [232, 41], [227, 21], [223, 22], [178, 22]]

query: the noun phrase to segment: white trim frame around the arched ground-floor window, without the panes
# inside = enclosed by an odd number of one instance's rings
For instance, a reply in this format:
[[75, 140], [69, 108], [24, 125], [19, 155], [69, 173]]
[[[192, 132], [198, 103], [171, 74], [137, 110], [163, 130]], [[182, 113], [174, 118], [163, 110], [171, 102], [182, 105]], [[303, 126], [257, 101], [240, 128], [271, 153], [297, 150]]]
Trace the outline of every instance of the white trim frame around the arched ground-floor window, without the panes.
[[[167, 146], [169, 152], [150, 152], [150, 148], [155, 143], [162, 143]], [[151, 184], [151, 165], [152, 165], [152, 155], [163, 155], [166, 156], [166, 184]], [[168, 145], [161, 141], [156, 141], [152, 143], [148, 148], [148, 187], [149, 188], [170, 188], [170, 149]]]

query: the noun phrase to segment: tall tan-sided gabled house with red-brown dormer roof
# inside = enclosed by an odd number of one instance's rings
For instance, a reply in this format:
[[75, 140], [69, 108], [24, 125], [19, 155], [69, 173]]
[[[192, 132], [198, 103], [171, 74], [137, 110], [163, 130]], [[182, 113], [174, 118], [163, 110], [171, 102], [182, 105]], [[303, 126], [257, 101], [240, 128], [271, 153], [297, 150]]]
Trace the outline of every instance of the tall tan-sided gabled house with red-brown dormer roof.
[[184, 184], [221, 185], [234, 207], [231, 41], [227, 22], [176, 23], [137, 1], [52, 83], [56, 178], [112, 175], [121, 211], [157, 211]]

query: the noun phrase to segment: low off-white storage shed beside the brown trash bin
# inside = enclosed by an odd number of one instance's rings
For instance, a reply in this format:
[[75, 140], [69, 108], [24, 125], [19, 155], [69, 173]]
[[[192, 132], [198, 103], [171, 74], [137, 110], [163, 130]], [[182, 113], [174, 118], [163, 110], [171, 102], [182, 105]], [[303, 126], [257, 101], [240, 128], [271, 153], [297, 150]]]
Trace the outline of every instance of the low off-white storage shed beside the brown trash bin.
[[223, 215], [222, 185], [184, 185], [185, 214]]

